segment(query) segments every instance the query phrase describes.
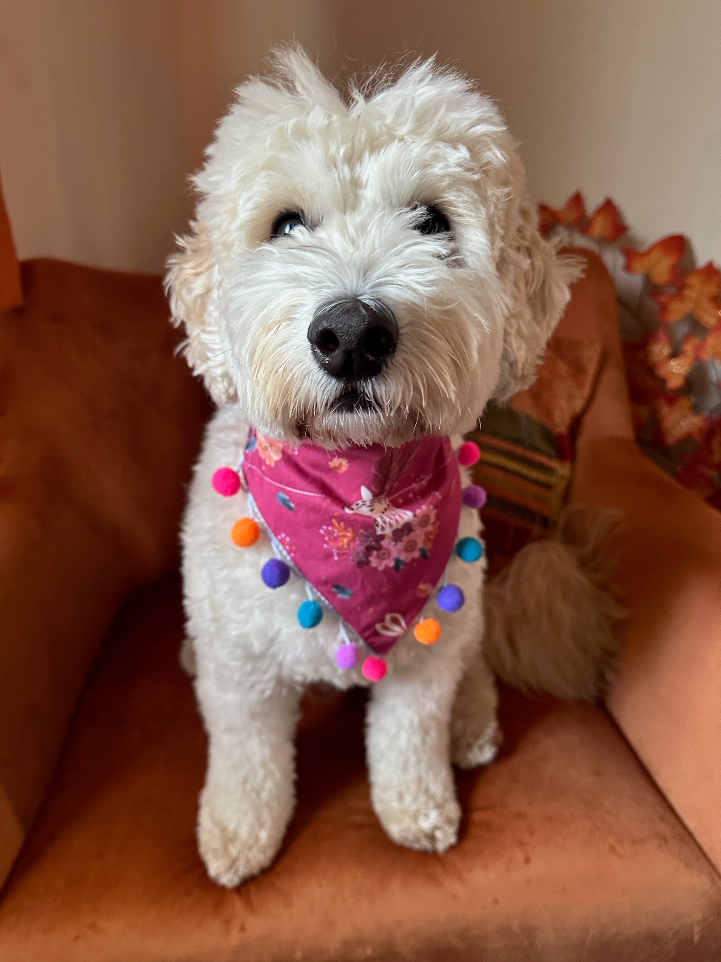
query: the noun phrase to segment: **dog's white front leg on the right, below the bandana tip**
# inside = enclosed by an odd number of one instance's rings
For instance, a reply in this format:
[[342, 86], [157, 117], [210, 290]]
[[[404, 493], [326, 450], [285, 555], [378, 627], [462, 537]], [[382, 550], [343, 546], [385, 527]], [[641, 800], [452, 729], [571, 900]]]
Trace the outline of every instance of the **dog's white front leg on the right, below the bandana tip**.
[[366, 750], [373, 807], [394, 842], [426, 851], [455, 844], [460, 806], [450, 764], [458, 659], [435, 650], [373, 689]]

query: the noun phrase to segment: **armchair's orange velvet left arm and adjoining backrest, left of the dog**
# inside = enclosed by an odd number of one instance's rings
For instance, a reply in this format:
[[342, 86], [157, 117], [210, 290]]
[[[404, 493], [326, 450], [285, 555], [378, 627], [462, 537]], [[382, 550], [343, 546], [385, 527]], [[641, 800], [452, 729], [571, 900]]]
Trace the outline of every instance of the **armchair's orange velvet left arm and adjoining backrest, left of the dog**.
[[206, 415], [160, 278], [22, 279], [0, 316], [0, 883], [119, 605], [176, 564]]

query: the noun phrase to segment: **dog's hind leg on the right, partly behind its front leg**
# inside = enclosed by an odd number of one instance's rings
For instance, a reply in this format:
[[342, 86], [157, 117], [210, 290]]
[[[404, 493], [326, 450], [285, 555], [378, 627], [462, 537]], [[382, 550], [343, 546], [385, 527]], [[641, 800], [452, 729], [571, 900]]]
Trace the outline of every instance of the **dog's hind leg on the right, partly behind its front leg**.
[[451, 758], [460, 769], [487, 765], [498, 754], [498, 691], [478, 646], [460, 679], [451, 716]]

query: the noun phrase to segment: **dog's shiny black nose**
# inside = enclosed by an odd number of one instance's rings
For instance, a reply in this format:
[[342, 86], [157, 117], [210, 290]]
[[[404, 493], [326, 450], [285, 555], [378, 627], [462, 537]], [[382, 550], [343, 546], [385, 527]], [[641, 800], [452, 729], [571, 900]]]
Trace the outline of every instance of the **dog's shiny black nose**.
[[346, 297], [318, 308], [308, 329], [315, 360], [347, 381], [375, 377], [398, 343], [398, 324], [380, 301]]

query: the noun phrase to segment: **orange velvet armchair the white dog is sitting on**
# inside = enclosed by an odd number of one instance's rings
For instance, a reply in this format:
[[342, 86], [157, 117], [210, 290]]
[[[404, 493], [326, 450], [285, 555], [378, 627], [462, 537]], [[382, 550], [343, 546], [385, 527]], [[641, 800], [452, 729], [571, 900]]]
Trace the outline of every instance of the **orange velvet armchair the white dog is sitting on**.
[[603, 348], [571, 497], [623, 512], [608, 709], [504, 691], [433, 856], [373, 815], [362, 696], [309, 698], [285, 846], [236, 891], [195, 849], [174, 572], [208, 409], [160, 280], [19, 266], [3, 212], [0, 299], [0, 962], [721, 958], [721, 518], [635, 447], [597, 258], [561, 332]]

